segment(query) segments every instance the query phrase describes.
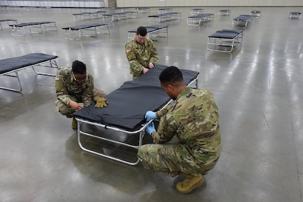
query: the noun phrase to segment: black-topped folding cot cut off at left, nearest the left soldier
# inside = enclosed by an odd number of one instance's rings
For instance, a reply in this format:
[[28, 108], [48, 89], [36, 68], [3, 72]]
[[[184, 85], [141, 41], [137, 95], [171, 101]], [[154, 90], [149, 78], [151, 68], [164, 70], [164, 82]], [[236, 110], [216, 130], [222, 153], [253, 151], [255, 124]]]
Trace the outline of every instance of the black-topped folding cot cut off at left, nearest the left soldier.
[[37, 68], [56, 68], [58, 70], [56, 58], [58, 58], [58, 56], [51, 56], [44, 53], [30, 53], [25, 56], [0, 60], [0, 75], [16, 77], [18, 80], [18, 88], [0, 87], [0, 89], [6, 89], [17, 92], [22, 91], [18, 72], [26, 68], [32, 68], [32, 70], [34, 70], [34, 72], [39, 75], [55, 76], [56, 74], [39, 72], [37, 71]]

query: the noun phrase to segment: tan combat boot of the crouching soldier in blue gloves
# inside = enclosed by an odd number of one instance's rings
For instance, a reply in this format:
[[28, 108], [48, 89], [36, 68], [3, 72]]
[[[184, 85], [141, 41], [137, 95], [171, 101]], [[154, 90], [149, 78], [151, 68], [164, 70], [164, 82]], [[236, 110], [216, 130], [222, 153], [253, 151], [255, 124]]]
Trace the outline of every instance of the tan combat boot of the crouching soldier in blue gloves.
[[193, 191], [193, 189], [202, 186], [205, 182], [203, 175], [195, 176], [183, 173], [181, 175], [185, 176], [184, 181], [176, 184], [176, 190], [181, 194], [188, 194]]

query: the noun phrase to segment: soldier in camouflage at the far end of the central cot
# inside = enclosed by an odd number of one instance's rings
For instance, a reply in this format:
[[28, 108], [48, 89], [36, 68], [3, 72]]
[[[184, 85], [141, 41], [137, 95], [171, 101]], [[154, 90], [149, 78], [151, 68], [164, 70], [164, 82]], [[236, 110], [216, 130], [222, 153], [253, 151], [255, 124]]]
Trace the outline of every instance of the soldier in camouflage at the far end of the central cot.
[[129, 61], [129, 70], [133, 80], [145, 74], [157, 65], [158, 56], [155, 45], [147, 39], [146, 27], [138, 27], [136, 37], [125, 45], [125, 52]]

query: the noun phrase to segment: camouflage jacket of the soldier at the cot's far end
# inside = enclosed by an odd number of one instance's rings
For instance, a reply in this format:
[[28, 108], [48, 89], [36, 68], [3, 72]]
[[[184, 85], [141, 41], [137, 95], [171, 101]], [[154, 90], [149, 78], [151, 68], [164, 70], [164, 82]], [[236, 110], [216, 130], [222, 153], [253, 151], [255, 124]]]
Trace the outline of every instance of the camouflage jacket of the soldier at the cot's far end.
[[143, 75], [143, 68], [148, 68], [148, 63], [157, 65], [158, 56], [155, 44], [151, 39], [146, 39], [144, 44], [136, 42], [136, 37], [125, 45], [125, 52], [130, 64], [130, 72], [134, 77]]

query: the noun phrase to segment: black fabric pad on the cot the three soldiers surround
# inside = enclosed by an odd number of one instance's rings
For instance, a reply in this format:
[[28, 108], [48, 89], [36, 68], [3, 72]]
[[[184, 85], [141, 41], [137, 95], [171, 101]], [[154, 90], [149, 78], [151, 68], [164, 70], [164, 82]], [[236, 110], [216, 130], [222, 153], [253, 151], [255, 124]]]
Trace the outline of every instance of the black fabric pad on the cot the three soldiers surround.
[[[145, 122], [146, 111], [157, 111], [170, 100], [159, 81], [160, 72], [165, 68], [167, 66], [156, 65], [138, 79], [124, 82], [119, 89], [105, 96], [108, 99], [107, 107], [96, 108], [95, 103], [91, 103], [73, 115], [127, 131], [138, 130]], [[186, 84], [199, 74], [192, 70], [181, 71]]]

